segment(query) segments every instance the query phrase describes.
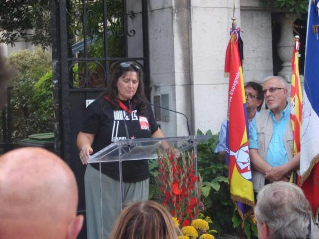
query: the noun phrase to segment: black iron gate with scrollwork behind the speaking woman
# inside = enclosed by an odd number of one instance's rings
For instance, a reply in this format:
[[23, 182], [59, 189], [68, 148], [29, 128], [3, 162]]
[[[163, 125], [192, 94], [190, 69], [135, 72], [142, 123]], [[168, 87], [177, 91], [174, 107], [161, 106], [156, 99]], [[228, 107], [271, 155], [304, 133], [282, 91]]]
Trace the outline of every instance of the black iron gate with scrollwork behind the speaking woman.
[[144, 66], [149, 96], [147, 0], [50, 0], [50, 9], [55, 147], [76, 175], [84, 214], [85, 166], [76, 137], [86, 101], [105, 90], [110, 65], [126, 60]]

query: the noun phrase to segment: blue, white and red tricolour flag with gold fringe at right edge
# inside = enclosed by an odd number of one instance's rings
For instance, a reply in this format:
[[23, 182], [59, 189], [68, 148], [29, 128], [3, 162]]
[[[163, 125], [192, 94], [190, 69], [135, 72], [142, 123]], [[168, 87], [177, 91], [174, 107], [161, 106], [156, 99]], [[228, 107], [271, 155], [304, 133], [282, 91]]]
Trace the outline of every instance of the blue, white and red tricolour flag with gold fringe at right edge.
[[319, 0], [309, 0], [301, 122], [300, 186], [319, 212]]

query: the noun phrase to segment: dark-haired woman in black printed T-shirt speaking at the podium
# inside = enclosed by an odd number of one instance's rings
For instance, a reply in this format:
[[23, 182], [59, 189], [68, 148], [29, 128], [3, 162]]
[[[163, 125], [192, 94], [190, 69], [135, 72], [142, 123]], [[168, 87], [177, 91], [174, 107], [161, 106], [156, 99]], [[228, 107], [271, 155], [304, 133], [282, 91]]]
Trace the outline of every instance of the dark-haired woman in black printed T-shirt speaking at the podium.
[[[137, 62], [116, 62], [110, 72], [111, 78], [105, 94], [87, 107], [78, 134], [77, 145], [83, 164], [87, 164], [91, 154], [117, 140], [126, 139], [127, 134], [131, 139], [164, 137], [155, 122], [151, 106], [138, 98], [146, 99], [141, 66]], [[103, 235], [109, 237], [121, 210], [118, 162], [101, 164], [101, 172]], [[123, 162], [122, 175], [124, 207], [148, 199], [147, 160]], [[84, 181], [87, 238], [101, 238], [99, 163], [87, 165]]]

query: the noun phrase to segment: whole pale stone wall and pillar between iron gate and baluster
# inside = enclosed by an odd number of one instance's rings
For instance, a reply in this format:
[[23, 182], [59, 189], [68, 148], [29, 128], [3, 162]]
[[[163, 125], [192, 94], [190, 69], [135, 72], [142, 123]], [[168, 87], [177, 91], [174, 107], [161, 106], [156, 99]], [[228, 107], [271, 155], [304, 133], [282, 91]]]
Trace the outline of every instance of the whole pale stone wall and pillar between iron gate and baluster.
[[[152, 95], [168, 93], [169, 106], [188, 114], [195, 130], [218, 133], [226, 119], [224, 64], [233, 3], [149, 1]], [[243, 30], [244, 81], [261, 81], [272, 75], [271, 11], [259, 0], [235, 0], [235, 17]], [[173, 113], [159, 124], [167, 136], [187, 133], [183, 118]]]

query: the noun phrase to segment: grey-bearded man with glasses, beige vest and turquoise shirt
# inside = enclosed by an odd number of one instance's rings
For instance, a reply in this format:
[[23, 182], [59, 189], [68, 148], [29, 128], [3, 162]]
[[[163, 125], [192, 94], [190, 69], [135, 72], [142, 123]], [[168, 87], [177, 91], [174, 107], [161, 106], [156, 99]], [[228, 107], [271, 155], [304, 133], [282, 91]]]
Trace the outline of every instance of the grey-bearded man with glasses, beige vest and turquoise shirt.
[[274, 181], [289, 181], [299, 168], [300, 154], [293, 156], [293, 132], [288, 84], [279, 76], [263, 80], [263, 95], [268, 109], [260, 113], [249, 127], [249, 155], [253, 165], [254, 191]]

